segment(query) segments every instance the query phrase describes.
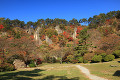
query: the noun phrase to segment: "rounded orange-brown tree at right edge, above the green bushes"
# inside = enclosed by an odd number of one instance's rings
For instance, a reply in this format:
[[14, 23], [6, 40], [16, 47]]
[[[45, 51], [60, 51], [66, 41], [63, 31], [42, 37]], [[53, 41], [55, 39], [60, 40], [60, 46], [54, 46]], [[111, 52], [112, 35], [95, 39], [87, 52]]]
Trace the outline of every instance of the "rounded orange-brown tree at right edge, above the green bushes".
[[[98, 47], [101, 50], [112, 52], [120, 45], [120, 37], [116, 34], [109, 34], [108, 36], [103, 37], [99, 43]], [[110, 53], [108, 53], [110, 54]]]

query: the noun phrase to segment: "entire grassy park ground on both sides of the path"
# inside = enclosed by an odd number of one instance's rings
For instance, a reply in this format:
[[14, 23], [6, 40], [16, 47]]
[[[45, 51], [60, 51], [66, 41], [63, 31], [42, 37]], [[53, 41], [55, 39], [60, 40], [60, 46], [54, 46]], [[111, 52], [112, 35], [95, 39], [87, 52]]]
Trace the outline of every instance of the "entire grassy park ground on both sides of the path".
[[[120, 80], [120, 58], [111, 62], [87, 64], [42, 64], [35, 68], [0, 72], [0, 80], [90, 80], [75, 65], [89, 69], [90, 73], [108, 80]], [[110, 66], [112, 65], [112, 66]]]

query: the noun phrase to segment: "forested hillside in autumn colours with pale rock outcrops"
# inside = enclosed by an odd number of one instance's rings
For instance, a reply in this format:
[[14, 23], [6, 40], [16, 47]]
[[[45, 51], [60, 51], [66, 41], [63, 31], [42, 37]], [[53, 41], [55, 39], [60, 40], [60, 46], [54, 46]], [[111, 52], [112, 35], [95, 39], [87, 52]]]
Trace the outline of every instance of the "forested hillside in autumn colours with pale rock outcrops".
[[16, 59], [33, 67], [42, 62], [107, 62], [118, 57], [120, 11], [79, 21], [47, 18], [25, 24], [18, 19], [0, 18], [0, 67], [7, 64], [8, 70], [14, 70]]

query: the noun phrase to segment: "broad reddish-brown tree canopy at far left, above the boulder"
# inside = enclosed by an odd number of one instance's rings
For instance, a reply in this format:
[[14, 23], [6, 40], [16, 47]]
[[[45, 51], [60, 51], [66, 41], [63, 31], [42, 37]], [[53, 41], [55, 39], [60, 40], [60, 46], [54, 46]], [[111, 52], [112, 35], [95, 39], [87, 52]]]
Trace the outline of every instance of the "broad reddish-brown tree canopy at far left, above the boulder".
[[5, 49], [6, 58], [10, 58], [13, 55], [18, 55], [20, 57], [23, 57], [24, 61], [27, 61], [28, 59], [31, 59], [29, 56], [33, 54], [33, 50], [35, 50], [35, 42], [32, 40], [31, 37], [23, 36], [20, 39], [6, 39], [0, 38], [0, 48]]

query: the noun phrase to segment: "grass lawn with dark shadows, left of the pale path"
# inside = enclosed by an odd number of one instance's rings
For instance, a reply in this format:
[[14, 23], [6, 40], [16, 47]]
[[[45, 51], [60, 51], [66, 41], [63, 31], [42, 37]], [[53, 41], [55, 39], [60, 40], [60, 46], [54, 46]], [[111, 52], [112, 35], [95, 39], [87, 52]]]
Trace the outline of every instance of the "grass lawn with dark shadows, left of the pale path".
[[71, 64], [45, 64], [37, 68], [0, 72], [0, 80], [89, 80]]

